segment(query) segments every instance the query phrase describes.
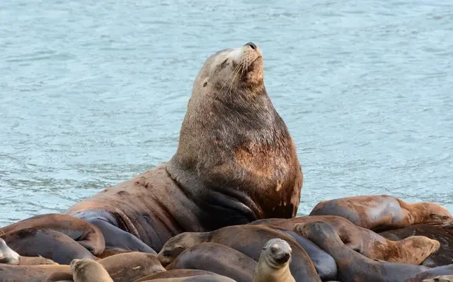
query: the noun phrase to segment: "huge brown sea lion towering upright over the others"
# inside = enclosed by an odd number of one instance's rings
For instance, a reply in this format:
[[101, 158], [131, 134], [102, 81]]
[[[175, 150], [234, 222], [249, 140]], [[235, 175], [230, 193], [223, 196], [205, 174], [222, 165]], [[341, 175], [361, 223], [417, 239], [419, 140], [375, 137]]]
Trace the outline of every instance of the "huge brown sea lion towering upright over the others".
[[253, 43], [207, 58], [193, 84], [178, 150], [67, 214], [101, 229], [106, 249], [159, 252], [181, 232], [297, 213], [302, 169], [263, 81]]

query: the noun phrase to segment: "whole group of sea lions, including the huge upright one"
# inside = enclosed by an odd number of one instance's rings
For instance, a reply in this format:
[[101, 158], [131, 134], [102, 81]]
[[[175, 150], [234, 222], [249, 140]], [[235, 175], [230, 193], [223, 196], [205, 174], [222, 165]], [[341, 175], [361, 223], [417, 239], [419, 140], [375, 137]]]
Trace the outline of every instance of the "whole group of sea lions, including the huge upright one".
[[0, 229], [0, 281], [452, 281], [453, 216], [386, 195], [297, 217], [302, 167], [254, 43], [215, 52], [176, 154]]

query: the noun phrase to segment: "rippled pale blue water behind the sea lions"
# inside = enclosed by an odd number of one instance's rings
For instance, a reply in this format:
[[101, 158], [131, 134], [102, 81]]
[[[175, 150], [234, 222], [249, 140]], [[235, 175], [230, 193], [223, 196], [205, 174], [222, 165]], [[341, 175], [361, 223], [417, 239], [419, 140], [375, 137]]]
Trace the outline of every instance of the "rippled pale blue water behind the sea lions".
[[453, 212], [453, 2], [3, 0], [0, 226], [166, 161], [205, 59], [260, 46], [300, 214], [388, 193]]

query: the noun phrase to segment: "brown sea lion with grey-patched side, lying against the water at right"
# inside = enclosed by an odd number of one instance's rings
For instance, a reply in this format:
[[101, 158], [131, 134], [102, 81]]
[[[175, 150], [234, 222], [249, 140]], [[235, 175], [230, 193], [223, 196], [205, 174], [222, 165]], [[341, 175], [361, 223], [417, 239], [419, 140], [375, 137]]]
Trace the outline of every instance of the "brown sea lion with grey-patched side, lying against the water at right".
[[311, 210], [310, 215], [338, 215], [357, 226], [376, 232], [419, 223], [453, 223], [452, 214], [437, 203], [406, 203], [388, 195], [321, 201]]

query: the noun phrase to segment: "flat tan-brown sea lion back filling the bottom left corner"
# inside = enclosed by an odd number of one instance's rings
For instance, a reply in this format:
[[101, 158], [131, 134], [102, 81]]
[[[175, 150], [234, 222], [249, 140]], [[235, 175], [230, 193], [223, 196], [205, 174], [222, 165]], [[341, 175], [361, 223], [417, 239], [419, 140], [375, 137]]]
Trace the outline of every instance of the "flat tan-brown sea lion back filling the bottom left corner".
[[72, 280], [69, 265], [44, 264], [44, 265], [10, 265], [0, 264], [0, 281], [8, 282], [44, 282]]

